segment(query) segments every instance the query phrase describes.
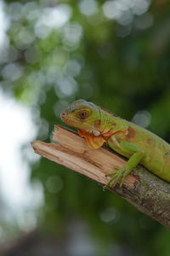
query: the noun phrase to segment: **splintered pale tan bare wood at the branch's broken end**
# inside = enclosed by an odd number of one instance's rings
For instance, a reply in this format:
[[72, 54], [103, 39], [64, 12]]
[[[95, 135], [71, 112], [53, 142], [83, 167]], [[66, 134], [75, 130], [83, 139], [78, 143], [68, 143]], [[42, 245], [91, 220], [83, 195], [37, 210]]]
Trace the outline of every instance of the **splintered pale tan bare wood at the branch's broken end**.
[[[111, 177], [105, 177], [105, 173], [114, 172], [115, 166], [122, 167], [125, 164], [125, 160], [111, 153], [109, 149], [88, 148], [85, 140], [77, 133], [59, 125], [55, 126], [53, 141], [59, 144], [38, 141], [31, 145], [37, 154], [79, 172], [97, 183], [108, 183]], [[135, 180], [136, 177], [129, 175], [125, 183], [133, 184]]]

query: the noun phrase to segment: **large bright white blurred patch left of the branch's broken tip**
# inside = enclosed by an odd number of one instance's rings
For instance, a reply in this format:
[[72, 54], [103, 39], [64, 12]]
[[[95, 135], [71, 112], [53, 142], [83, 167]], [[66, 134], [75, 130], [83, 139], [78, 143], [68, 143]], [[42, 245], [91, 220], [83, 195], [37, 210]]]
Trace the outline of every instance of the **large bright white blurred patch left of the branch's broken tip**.
[[[34, 211], [42, 205], [42, 187], [31, 186], [30, 168], [21, 154], [26, 145], [32, 160], [30, 143], [36, 137], [37, 129], [31, 120], [31, 111], [0, 90], [0, 194], [8, 208], [8, 218], [16, 218], [21, 229], [35, 225]], [[26, 214], [26, 212], [29, 214]]]

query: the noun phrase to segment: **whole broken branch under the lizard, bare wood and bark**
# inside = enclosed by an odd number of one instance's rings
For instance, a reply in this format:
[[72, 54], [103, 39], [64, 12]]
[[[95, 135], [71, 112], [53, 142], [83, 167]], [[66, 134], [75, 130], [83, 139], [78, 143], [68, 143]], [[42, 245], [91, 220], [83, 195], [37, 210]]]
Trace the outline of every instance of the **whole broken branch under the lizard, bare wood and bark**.
[[[102, 185], [110, 179], [105, 177], [106, 172], [114, 172], [114, 167], [122, 167], [126, 162], [122, 156], [108, 148], [88, 148], [85, 140], [77, 133], [59, 125], [55, 126], [53, 140], [59, 144], [37, 141], [31, 143], [31, 146], [37, 154]], [[143, 166], [138, 166], [127, 176], [122, 188], [116, 183], [111, 191], [170, 228], [170, 183], [156, 177]]]

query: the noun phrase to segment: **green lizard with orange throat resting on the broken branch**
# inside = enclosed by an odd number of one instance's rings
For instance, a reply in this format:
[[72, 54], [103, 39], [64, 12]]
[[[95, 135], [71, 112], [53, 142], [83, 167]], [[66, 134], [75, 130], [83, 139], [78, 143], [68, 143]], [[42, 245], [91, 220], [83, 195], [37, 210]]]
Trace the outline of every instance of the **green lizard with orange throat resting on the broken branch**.
[[170, 182], [170, 144], [151, 131], [84, 100], [72, 102], [60, 117], [78, 130], [90, 148], [106, 143], [128, 159], [122, 168], [105, 174], [111, 177], [105, 187], [114, 187], [117, 181], [122, 186], [125, 177], [139, 164]]

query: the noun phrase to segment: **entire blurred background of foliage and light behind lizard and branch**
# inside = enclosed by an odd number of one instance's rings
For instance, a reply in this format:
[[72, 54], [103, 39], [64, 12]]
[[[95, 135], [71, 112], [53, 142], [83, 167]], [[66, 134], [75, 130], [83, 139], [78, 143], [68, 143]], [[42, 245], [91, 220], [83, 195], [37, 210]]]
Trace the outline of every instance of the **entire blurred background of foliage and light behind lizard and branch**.
[[168, 0], [0, 2], [0, 254], [169, 256], [170, 232], [33, 153], [83, 98], [170, 143]]

